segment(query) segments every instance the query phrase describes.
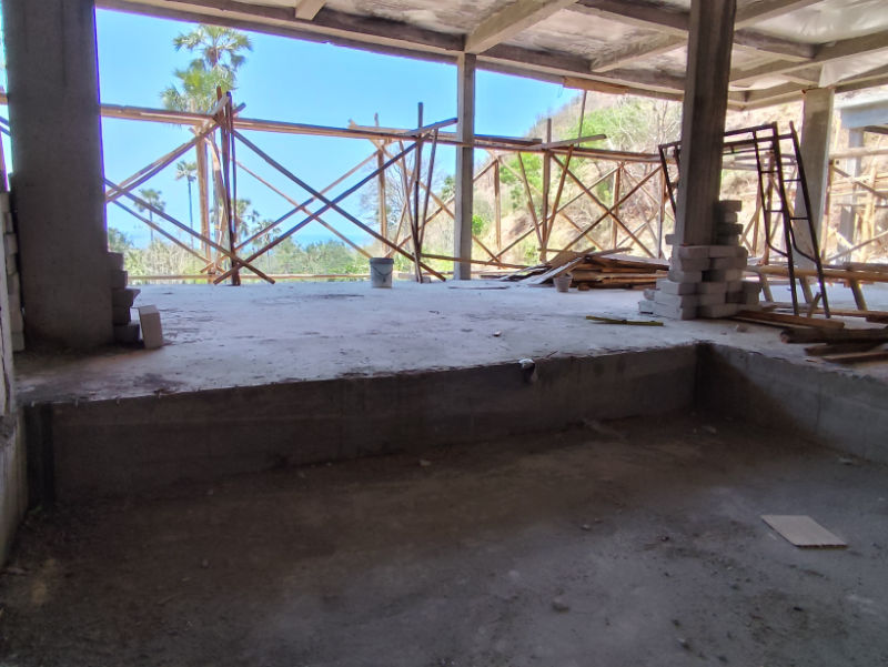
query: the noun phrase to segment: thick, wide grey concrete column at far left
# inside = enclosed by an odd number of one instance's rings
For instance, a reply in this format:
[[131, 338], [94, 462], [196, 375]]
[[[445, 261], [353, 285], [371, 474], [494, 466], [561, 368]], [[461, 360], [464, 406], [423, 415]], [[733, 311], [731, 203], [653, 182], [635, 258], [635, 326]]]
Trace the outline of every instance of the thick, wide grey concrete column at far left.
[[26, 334], [112, 340], [92, 0], [3, 0]]

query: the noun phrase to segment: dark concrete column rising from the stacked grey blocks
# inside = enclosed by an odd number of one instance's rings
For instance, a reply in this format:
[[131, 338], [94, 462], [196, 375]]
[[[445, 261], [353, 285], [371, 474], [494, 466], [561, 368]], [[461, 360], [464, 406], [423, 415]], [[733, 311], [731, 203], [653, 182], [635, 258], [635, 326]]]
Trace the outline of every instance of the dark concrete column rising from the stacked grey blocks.
[[686, 245], [708, 245], [715, 236], [736, 10], [736, 0], [690, 4], [675, 221], [675, 238]]

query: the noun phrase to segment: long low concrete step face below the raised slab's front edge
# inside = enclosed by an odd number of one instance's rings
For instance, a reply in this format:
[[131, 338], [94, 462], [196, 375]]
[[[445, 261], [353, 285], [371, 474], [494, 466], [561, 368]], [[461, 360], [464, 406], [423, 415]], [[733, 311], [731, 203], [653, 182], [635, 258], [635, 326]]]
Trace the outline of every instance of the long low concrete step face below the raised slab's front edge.
[[42, 478], [67, 501], [687, 408], [695, 365], [686, 346], [544, 360], [532, 383], [514, 362], [59, 403], [29, 417], [29, 438], [32, 421], [43, 433], [29, 446], [54, 462]]

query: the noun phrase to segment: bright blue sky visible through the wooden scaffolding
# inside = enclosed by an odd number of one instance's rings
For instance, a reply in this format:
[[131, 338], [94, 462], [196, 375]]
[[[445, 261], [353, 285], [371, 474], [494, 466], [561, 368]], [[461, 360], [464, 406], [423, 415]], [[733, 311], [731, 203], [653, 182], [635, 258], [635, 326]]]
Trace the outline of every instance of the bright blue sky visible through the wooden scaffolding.
[[[161, 107], [160, 92], [174, 81], [173, 70], [188, 64], [186, 52], [175, 52], [173, 38], [192, 26], [123, 12], [97, 12], [99, 71], [102, 102], [134, 107]], [[416, 124], [417, 102], [424, 104], [426, 122], [456, 114], [456, 69], [454, 65], [380, 55], [366, 51], [252, 33], [253, 52], [239, 73], [236, 103], [245, 103], [243, 115], [269, 120], [346, 127], [350, 120], [373, 124], [374, 113], [387, 127]], [[559, 85], [518, 77], [478, 72], [476, 131], [523, 135], [541, 115], [554, 111], [576, 95]], [[121, 181], [190, 137], [185, 128], [127, 120], [103, 120], [105, 174]], [[343, 140], [254, 133], [251, 139], [312, 186], [321, 189], [370, 154], [364, 140]], [[275, 185], [302, 201], [305, 193], [265, 168], [260, 160], [241, 158]], [[189, 155], [193, 159], [193, 153]], [[454, 152], [440, 149], [435, 170], [453, 172]], [[353, 180], [349, 183], [354, 182]], [[346, 183], [343, 188], [347, 186]], [[170, 166], [144, 186], [162, 192], [167, 210], [189, 220], [188, 189], [174, 180]], [[239, 181], [239, 196], [250, 199], [263, 218], [285, 212], [289, 204], [245, 174]], [[346, 200], [359, 214], [360, 194]], [[196, 215], [196, 210], [194, 212]], [[110, 206], [109, 225], [147, 243], [148, 228]], [[369, 239], [349, 223], [331, 216], [329, 222], [350, 238]], [[302, 243], [332, 235], [316, 223], [300, 231]]]

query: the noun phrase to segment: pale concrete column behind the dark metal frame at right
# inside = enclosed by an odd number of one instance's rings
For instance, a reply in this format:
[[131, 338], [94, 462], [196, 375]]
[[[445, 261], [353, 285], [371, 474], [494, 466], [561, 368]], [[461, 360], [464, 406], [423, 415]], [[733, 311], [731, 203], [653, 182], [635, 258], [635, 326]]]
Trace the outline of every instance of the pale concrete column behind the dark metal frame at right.
[[[824, 209], [826, 208], [826, 183], [829, 175], [829, 144], [833, 137], [833, 98], [829, 88], [815, 88], [805, 91], [801, 109], [801, 163], [805, 165], [805, 178], [808, 181], [808, 194], [811, 198], [810, 219], [817, 239], [823, 239]], [[796, 192], [795, 211], [805, 211], [801, 189]], [[794, 224], [796, 243], [811, 254], [811, 236], [805, 221]], [[797, 256], [800, 266], [814, 266], [807, 257]]]

